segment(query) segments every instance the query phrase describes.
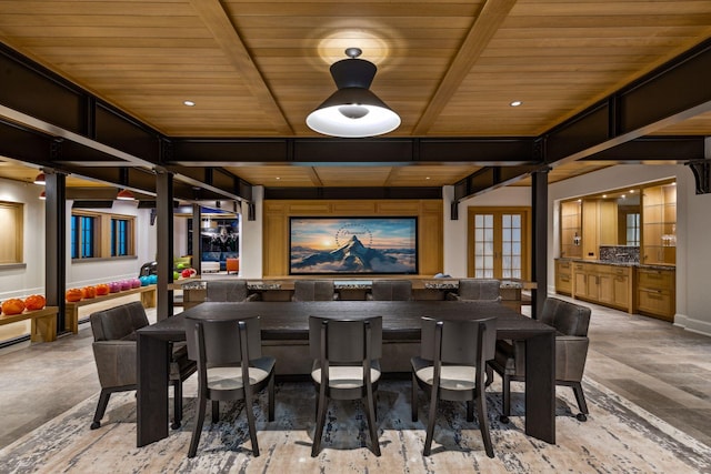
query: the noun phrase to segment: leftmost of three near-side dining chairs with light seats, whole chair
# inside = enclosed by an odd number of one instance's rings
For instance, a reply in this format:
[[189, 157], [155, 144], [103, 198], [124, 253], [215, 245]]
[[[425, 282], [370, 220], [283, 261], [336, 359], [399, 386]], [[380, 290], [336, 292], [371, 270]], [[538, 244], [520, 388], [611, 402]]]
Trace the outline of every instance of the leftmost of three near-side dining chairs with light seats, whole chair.
[[241, 321], [186, 317], [188, 356], [198, 363], [198, 410], [188, 457], [194, 457], [200, 443], [207, 402], [212, 402], [212, 423], [220, 420], [220, 401], [243, 400], [252, 442], [259, 456], [252, 400], [268, 389], [268, 420], [274, 420], [274, 365], [262, 356], [259, 317]]

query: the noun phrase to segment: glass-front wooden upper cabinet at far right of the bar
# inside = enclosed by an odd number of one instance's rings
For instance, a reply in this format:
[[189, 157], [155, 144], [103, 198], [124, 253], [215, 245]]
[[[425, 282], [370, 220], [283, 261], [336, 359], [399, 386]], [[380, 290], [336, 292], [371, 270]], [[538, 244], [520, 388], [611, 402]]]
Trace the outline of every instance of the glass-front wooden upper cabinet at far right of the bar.
[[677, 185], [665, 183], [642, 191], [640, 263], [673, 265], [677, 262]]

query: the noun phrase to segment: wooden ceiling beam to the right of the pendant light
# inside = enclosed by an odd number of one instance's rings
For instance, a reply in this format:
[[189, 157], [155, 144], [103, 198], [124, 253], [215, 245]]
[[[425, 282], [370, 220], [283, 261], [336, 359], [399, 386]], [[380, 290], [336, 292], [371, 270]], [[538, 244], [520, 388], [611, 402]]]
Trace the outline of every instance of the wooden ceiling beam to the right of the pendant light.
[[469, 29], [469, 33], [459, 48], [454, 60], [448, 68], [442, 81], [430, 99], [424, 113], [412, 131], [415, 135], [425, 134], [444, 107], [450, 102], [454, 92], [471, 72], [471, 68], [487, 49], [489, 41], [497, 33], [501, 24], [509, 17], [509, 12], [517, 0], [485, 0], [477, 19]]

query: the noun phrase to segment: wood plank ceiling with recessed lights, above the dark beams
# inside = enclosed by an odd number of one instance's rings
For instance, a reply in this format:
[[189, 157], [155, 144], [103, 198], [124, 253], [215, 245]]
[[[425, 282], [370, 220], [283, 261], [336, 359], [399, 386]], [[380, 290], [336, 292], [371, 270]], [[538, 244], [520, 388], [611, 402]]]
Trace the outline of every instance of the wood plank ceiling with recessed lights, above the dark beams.
[[[389, 137], [537, 137], [710, 37], [705, 0], [0, 0], [3, 43], [169, 137], [317, 137], [304, 119], [348, 47], [402, 118]], [[711, 114], [659, 133], [711, 134]], [[479, 169], [233, 164], [266, 186], [440, 186]]]

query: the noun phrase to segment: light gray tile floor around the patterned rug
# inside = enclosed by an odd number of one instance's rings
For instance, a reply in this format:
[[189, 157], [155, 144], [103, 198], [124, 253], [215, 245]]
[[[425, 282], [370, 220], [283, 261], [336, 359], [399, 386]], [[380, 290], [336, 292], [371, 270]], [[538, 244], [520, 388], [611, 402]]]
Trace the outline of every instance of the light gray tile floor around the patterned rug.
[[[590, 306], [585, 375], [711, 446], [711, 337]], [[53, 343], [0, 350], [0, 447], [99, 392], [91, 340], [82, 324]]]

